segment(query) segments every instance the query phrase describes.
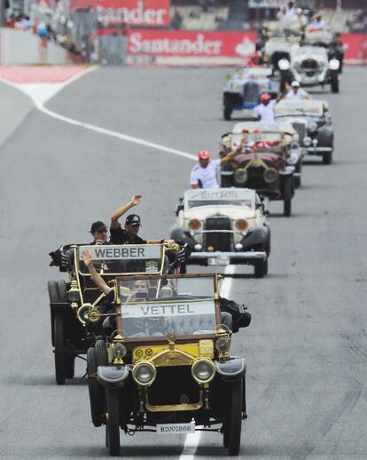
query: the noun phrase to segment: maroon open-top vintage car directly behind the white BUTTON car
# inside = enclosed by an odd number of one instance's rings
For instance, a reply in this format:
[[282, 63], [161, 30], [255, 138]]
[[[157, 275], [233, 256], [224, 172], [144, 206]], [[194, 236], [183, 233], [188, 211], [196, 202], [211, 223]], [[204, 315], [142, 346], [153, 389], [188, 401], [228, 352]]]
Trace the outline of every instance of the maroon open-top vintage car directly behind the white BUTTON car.
[[[264, 130], [262, 132], [262, 125]], [[230, 163], [222, 167], [222, 186], [248, 187], [269, 200], [282, 200], [284, 214], [292, 212], [295, 167], [298, 157], [293, 155], [294, 130], [289, 123], [269, 130], [270, 123], [237, 123], [221, 138], [221, 152], [242, 145]], [[282, 126], [282, 129], [279, 128]], [[297, 147], [298, 148], [298, 147]], [[299, 149], [294, 149], [299, 152]]]

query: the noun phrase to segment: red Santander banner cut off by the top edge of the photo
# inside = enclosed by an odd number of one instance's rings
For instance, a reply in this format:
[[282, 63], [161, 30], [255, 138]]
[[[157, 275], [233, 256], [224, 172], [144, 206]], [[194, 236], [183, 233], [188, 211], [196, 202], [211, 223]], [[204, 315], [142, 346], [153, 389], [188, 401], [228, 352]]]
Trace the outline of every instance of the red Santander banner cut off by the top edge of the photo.
[[71, 11], [95, 8], [105, 26], [163, 27], [169, 25], [169, 0], [70, 0]]

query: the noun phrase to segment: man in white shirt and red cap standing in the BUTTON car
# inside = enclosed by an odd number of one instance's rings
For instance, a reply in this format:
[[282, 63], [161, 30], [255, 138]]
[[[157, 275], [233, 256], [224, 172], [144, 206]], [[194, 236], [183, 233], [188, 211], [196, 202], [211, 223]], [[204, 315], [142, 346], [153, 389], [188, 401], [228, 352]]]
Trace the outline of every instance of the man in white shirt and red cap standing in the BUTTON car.
[[231, 150], [229, 154], [218, 160], [210, 160], [207, 150], [199, 151], [199, 163], [196, 164], [190, 173], [191, 188], [219, 188], [216, 180], [216, 168], [221, 164], [230, 162], [238, 152], [238, 147]]

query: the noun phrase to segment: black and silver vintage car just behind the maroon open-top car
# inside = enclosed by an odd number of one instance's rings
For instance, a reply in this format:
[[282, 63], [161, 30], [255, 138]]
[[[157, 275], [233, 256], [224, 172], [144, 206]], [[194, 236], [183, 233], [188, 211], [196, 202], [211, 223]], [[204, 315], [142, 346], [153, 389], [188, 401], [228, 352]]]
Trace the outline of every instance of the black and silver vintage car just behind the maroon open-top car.
[[324, 164], [332, 163], [334, 131], [326, 102], [317, 99], [283, 99], [277, 103], [275, 111], [278, 122], [293, 124], [306, 154], [322, 156]]

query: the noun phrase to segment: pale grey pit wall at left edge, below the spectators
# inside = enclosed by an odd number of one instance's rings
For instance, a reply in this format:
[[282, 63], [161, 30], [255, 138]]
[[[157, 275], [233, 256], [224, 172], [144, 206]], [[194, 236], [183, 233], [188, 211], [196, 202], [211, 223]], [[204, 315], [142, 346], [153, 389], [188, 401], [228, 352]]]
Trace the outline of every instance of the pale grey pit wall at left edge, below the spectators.
[[0, 65], [70, 64], [69, 53], [31, 32], [0, 28]]

